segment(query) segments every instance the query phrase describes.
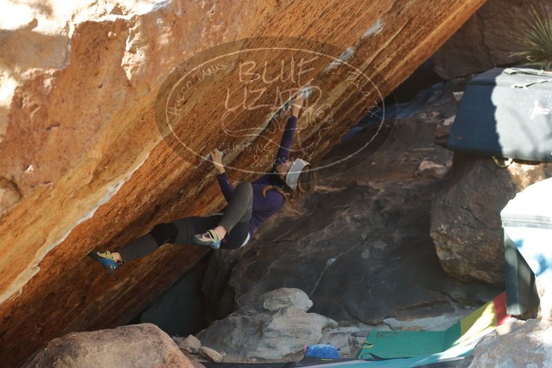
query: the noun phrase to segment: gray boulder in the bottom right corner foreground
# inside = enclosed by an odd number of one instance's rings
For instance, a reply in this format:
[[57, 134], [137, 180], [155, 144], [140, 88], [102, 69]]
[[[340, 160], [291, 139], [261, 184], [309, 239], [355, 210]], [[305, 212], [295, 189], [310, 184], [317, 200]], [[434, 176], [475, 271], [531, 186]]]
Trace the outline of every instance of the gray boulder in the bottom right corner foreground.
[[538, 320], [518, 321], [506, 334], [483, 338], [460, 367], [552, 367], [552, 328]]

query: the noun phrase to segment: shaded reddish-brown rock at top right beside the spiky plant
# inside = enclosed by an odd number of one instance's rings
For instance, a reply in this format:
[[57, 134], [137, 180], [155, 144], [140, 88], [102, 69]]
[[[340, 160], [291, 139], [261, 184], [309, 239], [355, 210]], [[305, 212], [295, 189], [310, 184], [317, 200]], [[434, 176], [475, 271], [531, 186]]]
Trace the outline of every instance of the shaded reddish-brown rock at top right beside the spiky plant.
[[[513, 56], [522, 48], [522, 25], [531, 6], [537, 10], [549, 0], [489, 0], [433, 54], [435, 72], [445, 79], [484, 72], [497, 65], [524, 61]], [[513, 27], [512, 25], [515, 25]]]

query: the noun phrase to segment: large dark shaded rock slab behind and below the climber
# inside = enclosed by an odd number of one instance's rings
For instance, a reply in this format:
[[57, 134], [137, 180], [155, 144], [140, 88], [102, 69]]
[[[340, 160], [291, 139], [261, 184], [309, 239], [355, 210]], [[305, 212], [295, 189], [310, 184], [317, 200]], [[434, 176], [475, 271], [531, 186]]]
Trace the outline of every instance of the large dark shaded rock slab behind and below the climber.
[[[447, 276], [429, 236], [431, 199], [444, 181], [419, 169], [424, 161], [450, 167], [452, 154], [435, 145], [434, 134], [455, 114], [453, 92], [461, 85], [436, 85], [399, 105], [385, 143], [359, 154], [346, 172], [317, 181], [299, 202], [306, 214], [282, 212], [253, 243], [213, 253], [204, 283], [210, 320], [272, 289], [296, 287], [313, 300], [311, 311], [361, 333], [446, 329], [500, 294]], [[354, 152], [371, 134], [366, 127], [343, 141], [328, 161]]]

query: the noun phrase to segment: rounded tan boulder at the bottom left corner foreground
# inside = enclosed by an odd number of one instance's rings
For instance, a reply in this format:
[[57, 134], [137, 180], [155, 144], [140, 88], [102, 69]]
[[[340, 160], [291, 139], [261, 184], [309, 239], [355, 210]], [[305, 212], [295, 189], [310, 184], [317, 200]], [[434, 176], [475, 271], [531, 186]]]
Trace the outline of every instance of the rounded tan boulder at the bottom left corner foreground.
[[193, 368], [193, 363], [164, 331], [143, 323], [55, 338], [23, 367]]

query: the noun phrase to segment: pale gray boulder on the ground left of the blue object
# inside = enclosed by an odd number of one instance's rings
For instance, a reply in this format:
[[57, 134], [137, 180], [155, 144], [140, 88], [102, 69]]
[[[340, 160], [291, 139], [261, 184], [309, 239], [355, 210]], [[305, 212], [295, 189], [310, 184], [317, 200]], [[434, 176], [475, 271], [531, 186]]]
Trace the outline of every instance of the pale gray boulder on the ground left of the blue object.
[[242, 356], [282, 359], [302, 351], [337, 327], [330, 318], [306, 310], [313, 305], [299, 289], [277, 289], [259, 296], [255, 303], [212, 323], [201, 336], [201, 345], [224, 351], [227, 361]]

